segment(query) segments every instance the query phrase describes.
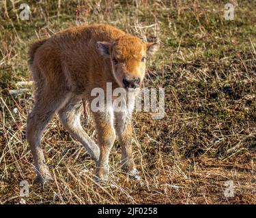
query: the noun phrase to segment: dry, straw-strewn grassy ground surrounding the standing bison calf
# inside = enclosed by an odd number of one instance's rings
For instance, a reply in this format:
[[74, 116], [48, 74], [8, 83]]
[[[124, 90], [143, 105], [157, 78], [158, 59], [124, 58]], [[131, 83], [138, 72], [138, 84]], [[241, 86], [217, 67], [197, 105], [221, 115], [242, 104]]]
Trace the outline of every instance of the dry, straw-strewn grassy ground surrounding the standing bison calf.
[[[234, 20], [225, 20], [225, 4]], [[1, 1], [0, 204], [255, 204], [256, 17], [254, 1]], [[161, 43], [147, 61], [145, 87], [165, 88], [165, 117], [134, 113], [134, 157], [141, 180], [120, 170], [116, 142], [109, 183], [94, 181], [94, 162], [57, 116], [42, 139], [55, 181], [35, 181], [25, 140], [33, 106], [27, 49], [74, 25], [109, 23]], [[91, 116], [85, 130], [96, 140]], [[29, 196], [20, 196], [21, 181]], [[22, 189], [23, 190], [23, 189]]]

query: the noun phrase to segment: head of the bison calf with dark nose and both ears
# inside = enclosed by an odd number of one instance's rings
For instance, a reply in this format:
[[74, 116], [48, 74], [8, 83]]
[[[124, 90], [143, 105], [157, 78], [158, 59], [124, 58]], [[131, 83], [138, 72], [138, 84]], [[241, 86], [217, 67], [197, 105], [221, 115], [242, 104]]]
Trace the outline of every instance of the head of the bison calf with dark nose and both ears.
[[145, 62], [158, 50], [158, 43], [143, 43], [124, 35], [114, 42], [98, 42], [100, 55], [110, 59], [113, 76], [120, 87], [137, 89], [145, 76]]

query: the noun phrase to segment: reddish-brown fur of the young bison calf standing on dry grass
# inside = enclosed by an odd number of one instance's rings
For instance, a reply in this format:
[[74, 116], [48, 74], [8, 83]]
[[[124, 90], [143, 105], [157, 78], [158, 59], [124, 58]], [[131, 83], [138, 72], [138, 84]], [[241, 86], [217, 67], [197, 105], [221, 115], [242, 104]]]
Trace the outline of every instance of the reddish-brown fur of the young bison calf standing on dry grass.
[[50, 180], [51, 174], [44, 161], [40, 138], [55, 112], [96, 160], [98, 178], [105, 178], [109, 172], [109, 152], [116, 134], [122, 146], [124, 169], [137, 173], [132, 159], [131, 117], [93, 112], [97, 145], [80, 125], [81, 99], [91, 102], [91, 90], [100, 87], [106, 91], [106, 82], [112, 82], [113, 89], [127, 88], [124, 78], [129, 82], [139, 78], [140, 85], [145, 75], [143, 57], [152, 55], [157, 47], [158, 44], [145, 44], [138, 37], [109, 25], [72, 27], [31, 46], [29, 63], [36, 91], [35, 106], [27, 119], [27, 140], [41, 182]]

